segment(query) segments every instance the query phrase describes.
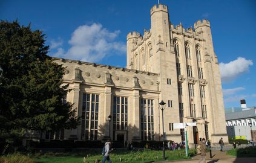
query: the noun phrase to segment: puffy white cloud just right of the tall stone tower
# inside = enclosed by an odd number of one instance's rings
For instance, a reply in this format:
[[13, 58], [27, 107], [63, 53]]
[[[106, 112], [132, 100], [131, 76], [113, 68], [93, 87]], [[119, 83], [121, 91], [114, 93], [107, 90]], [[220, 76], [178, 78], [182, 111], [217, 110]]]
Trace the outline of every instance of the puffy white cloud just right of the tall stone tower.
[[231, 82], [244, 72], [248, 72], [249, 66], [252, 65], [252, 60], [247, 60], [243, 57], [238, 57], [229, 63], [220, 63], [222, 82]]

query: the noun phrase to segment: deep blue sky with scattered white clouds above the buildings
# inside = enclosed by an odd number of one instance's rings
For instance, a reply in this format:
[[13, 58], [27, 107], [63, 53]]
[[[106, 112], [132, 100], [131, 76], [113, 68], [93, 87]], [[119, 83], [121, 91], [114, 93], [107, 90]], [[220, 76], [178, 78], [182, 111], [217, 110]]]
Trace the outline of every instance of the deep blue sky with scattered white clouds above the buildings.
[[[256, 1], [160, 0], [172, 24], [211, 22], [220, 63], [225, 107], [256, 106]], [[126, 34], [150, 29], [157, 0], [31, 1], [1, 0], [0, 19], [43, 30], [49, 56], [126, 66]]]

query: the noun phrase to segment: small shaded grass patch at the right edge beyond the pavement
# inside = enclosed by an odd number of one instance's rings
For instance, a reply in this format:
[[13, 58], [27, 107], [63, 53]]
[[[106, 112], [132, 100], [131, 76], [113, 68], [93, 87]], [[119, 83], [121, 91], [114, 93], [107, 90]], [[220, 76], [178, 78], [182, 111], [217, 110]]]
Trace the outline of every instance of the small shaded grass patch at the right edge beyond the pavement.
[[227, 154], [237, 157], [255, 157], [256, 146], [246, 147], [245, 149], [232, 149], [229, 150]]

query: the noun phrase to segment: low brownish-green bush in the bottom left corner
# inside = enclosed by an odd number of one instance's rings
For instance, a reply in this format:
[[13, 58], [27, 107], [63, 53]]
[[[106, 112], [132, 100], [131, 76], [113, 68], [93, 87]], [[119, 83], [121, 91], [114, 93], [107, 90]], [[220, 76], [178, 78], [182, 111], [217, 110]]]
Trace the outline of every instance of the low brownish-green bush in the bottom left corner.
[[0, 162], [4, 163], [33, 163], [33, 159], [28, 156], [14, 153], [13, 155], [0, 156]]

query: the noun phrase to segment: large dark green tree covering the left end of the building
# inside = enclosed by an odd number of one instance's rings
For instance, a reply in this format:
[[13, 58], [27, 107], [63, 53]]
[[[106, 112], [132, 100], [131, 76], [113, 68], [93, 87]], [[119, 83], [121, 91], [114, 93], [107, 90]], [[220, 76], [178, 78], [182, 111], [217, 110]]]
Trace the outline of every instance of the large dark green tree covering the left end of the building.
[[26, 130], [76, 128], [76, 110], [62, 103], [64, 68], [47, 56], [42, 31], [0, 22], [0, 138], [15, 144]]

